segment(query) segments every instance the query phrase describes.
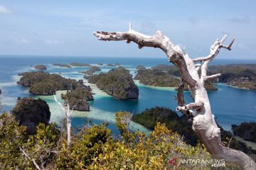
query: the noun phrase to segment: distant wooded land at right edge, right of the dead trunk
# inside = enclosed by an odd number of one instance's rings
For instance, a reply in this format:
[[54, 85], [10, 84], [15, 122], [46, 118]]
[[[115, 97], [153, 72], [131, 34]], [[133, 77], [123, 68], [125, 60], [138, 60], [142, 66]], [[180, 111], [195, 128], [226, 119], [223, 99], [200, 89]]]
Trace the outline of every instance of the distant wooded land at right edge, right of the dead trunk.
[[209, 67], [209, 74], [221, 76], [218, 81], [241, 89], [256, 90], [256, 64], [227, 64]]

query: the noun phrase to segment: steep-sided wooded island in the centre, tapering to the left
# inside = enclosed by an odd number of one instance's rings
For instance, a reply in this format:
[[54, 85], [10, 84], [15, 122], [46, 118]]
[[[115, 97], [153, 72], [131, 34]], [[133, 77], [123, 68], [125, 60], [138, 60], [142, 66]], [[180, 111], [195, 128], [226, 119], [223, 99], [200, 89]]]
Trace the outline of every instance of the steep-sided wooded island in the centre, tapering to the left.
[[117, 67], [107, 73], [92, 75], [88, 78], [88, 82], [96, 84], [107, 94], [119, 99], [137, 99], [139, 97], [139, 88], [134, 84], [129, 70], [124, 67]]

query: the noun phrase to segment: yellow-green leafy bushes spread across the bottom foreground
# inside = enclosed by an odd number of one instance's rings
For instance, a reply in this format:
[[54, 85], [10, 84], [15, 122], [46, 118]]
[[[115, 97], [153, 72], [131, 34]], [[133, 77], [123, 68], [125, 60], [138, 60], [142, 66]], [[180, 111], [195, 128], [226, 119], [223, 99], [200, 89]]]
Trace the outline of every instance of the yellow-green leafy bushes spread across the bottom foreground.
[[[104, 125], [85, 126], [74, 134], [68, 147], [65, 131], [55, 124], [39, 124], [35, 135], [4, 113], [0, 116], [1, 169], [173, 169], [169, 160], [210, 159], [203, 145], [191, 147], [180, 135], [156, 124], [149, 137], [144, 132], [129, 132], [129, 113], [119, 112], [117, 128], [121, 140], [111, 137]], [[225, 164], [225, 169], [235, 168]], [[198, 169], [198, 164], [178, 164], [175, 169]], [[211, 169], [202, 164], [200, 169]]]

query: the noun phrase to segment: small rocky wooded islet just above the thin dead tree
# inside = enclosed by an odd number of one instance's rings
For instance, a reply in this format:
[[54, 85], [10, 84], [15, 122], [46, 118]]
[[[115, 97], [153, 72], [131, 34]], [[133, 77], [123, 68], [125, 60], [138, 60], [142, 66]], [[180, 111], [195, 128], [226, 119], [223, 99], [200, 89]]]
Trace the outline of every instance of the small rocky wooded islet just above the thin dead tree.
[[90, 111], [90, 105], [87, 101], [94, 100], [92, 93], [86, 89], [67, 91], [66, 94], [61, 94], [61, 98], [68, 100], [70, 109], [77, 111]]

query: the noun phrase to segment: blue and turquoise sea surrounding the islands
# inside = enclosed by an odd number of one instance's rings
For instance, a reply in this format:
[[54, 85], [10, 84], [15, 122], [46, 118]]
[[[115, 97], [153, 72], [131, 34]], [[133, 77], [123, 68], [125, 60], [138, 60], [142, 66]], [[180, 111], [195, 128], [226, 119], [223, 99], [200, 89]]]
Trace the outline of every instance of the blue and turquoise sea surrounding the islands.
[[[34, 96], [28, 93], [28, 89], [16, 84], [21, 77], [18, 74], [22, 72], [34, 72], [33, 68], [36, 64], [45, 64], [46, 72], [60, 74], [65, 78], [83, 79], [83, 75], [79, 71], [85, 71], [90, 67], [72, 67], [63, 68], [53, 66], [52, 63], [69, 64], [71, 62], [88, 63], [91, 65], [114, 64], [119, 63], [122, 67], [130, 70], [134, 76], [137, 73], [137, 65], [141, 64], [144, 67], [152, 67], [157, 64], [170, 64], [167, 57], [75, 57], [75, 56], [17, 56], [17, 55], [1, 55], [0, 56], [0, 102], [2, 108], [0, 114], [4, 111], [9, 112], [16, 105], [18, 97], [31, 96], [34, 98], [42, 98], [50, 107], [50, 122], [61, 124], [64, 113], [60, 106], [54, 101], [53, 96]], [[216, 59], [211, 63], [214, 64], [256, 64], [256, 60], [224, 60]], [[108, 72], [114, 67], [99, 66], [102, 71]], [[100, 72], [97, 72], [100, 73]], [[96, 74], [97, 74], [96, 73]], [[85, 85], [89, 85], [94, 93], [94, 101], [89, 101], [90, 111], [74, 111], [72, 115], [72, 126], [75, 130], [82, 128], [88, 123], [101, 124], [109, 123], [108, 128], [112, 130], [112, 134], [119, 136], [119, 130], [114, 125], [115, 113], [117, 111], [129, 111], [132, 114], [138, 114], [146, 108], [154, 108], [156, 106], [164, 106], [175, 111], [177, 103], [174, 96], [176, 91], [170, 87], [145, 86], [135, 81], [139, 87], [138, 100], [119, 100], [106, 94], [95, 86], [89, 84], [83, 79]], [[242, 122], [256, 121], [256, 91], [238, 89], [226, 84], [215, 84], [218, 91], [208, 91], [212, 112], [219, 125], [225, 130], [231, 130], [231, 125], [239, 125]], [[58, 101], [63, 102], [60, 94], [65, 91], [58, 91], [56, 94]], [[186, 102], [191, 102], [190, 94], [184, 93]], [[181, 115], [180, 113], [178, 113]], [[141, 130], [149, 133], [150, 130], [144, 126], [131, 122], [130, 130]]]

